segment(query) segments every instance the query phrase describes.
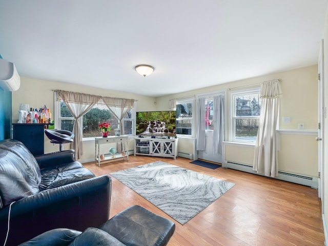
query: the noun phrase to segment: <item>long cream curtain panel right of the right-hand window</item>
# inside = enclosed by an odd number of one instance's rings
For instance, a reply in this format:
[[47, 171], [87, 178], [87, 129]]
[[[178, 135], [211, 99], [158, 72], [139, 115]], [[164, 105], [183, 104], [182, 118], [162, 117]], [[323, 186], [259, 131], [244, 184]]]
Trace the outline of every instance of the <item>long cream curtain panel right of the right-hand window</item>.
[[276, 127], [281, 88], [279, 79], [261, 85], [261, 115], [254, 150], [253, 170], [268, 177], [278, 176]]

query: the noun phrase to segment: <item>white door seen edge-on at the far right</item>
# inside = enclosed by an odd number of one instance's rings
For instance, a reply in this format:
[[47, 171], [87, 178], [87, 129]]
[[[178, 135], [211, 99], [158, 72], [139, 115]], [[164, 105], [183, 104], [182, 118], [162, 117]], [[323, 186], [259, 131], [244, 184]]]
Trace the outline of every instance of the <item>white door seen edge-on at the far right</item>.
[[318, 60], [318, 170], [319, 170], [319, 186], [318, 186], [318, 195], [321, 198], [321, 206], [323, 213], [323, 192], [324, 192], [324, 155], [323, 155], [323, 133], [324, 133], [324, 118], [325, 118], [325, 109], [324, 109], [324, 88], [323, 88], [323, 40], [321, 42], [321, 49], [319, 53]]

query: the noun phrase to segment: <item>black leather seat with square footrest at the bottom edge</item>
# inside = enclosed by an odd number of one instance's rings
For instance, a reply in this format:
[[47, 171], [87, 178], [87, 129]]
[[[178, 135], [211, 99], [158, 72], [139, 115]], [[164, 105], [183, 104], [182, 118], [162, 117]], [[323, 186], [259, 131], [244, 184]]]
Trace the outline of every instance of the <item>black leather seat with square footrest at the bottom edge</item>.
[[169, 219], [134, 205], [99, 228], [88, 228], [84, 232], [54, 229], [19, 246], [165, 246], [174, 231], [175, 224]]

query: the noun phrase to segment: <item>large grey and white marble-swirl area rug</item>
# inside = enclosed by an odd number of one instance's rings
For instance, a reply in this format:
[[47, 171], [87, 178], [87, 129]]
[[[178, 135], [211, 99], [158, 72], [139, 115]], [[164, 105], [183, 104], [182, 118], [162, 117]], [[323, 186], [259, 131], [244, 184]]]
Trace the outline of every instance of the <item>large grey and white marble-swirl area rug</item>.
[[188, 222], [235, 185], [164, 161], [111, 175], [181, 224]]

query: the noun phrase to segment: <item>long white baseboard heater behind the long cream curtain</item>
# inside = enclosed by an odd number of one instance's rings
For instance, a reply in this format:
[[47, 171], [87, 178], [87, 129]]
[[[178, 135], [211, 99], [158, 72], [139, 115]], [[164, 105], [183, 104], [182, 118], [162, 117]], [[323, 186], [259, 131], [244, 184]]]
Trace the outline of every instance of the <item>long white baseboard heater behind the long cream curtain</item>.
[[[253, 174], [258, 174], [255, 171], [253, 171], [252, 166], [244, 165], [244, 164], [236, 163], [236, 162], [231, 162], [231, 161], [226, 161], [226, 163], [227, 163], [227, 165], [226, 165], [227, 168], [236, 169], [239, 171], [253, 173]], [[261, 175], [261, 174], [258, 174], [258, 175]], [[298, 183], [303, 186], [309, 186], [311, 188], [318, 189], [318, 178], [316, 178], [316, 177], [278, 171], [278, 176], [274, 177], [274, 178], [288, 181], [288, 182]]]

